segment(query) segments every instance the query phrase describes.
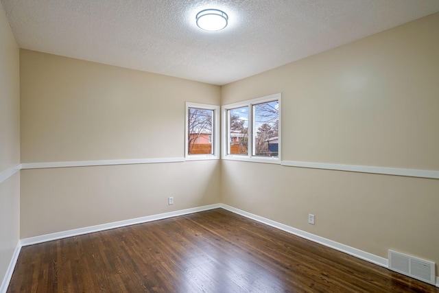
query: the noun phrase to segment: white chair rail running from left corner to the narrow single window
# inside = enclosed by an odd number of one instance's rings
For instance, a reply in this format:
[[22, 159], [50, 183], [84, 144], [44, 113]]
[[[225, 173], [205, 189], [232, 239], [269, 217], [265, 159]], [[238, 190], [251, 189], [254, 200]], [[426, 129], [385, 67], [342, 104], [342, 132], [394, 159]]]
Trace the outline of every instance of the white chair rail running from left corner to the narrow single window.
[[125, 160], [103, 160], [103, 161], [22, 163], [21, 169], [88, 167], [88, 166], [105, 166], [105, 165], [132, 165], [132, 164], [152, 164], [152, 163], [177, 163], [177, 162], [184, 162], [184, 161], [185, 161], [185, 158], [158, 158], [158, 159], [125, 159]]

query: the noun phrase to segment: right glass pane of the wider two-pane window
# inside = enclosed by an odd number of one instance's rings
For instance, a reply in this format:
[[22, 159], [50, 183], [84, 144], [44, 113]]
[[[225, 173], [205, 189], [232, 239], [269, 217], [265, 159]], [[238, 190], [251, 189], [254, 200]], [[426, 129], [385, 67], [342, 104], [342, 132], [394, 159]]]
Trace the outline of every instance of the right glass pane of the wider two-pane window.
[[279, 102], [253, 106], [253, 156], [278, 156]]

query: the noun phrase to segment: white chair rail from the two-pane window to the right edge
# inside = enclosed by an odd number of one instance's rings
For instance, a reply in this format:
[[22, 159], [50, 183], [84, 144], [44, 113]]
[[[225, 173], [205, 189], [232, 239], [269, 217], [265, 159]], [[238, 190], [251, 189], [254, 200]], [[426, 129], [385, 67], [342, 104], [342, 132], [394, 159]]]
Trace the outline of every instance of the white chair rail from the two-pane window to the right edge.
[[313, 162], [300, 162], [300, 161], [281, 161], [281, 165], [289, 166], [289, 167], [329, 169], [329, 170], [337, 170], [337, 171], [439, 179], [439, 171], [436, 170], [400, 169], [400, 168], [374, 167], [374, 166], [361, 166], [361, 165], [339, 165], [339, 164], [313, 163]]

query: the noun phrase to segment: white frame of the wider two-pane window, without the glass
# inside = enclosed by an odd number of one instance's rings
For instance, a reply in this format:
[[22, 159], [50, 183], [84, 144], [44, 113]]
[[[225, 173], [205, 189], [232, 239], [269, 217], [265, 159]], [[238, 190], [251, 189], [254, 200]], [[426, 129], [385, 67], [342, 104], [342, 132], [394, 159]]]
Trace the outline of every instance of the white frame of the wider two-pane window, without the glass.
[[[279, 125], [278, 125], [278, 156], [272, 157], [272, 156], [253, 156], [253, 106], [257, 104], [263, 104], [267, 102], [274, 102], [278, 101], [279, 108], [278, 108], [278, 119], [279, 119]], [[222, 159], [224, 160], [234, 160], [234, 161], [248, 161], [248, 162], [257, 162], [257, 163], [272, 163], [272, 164], [281, 164], [281, 93], [276, 93], [274, 95], [267, 95], [265, 97], [258, 97], [256, 99], [248, 99], [243, 102], [237, 102], [233, 104], [224, 105], [221, 107], [222, 112], [222, 129], [221, 129], [221, 138], [222, 138]], [[230, 137], [228, 136], [228, 124], [230, 123], [228, 121], [228, 110], [233, 110], [235, 108], [241, 108], [241, 107], [248, 107], [248, 153], [245, 154], [228, 154], [229, 145], [230, 143]]]

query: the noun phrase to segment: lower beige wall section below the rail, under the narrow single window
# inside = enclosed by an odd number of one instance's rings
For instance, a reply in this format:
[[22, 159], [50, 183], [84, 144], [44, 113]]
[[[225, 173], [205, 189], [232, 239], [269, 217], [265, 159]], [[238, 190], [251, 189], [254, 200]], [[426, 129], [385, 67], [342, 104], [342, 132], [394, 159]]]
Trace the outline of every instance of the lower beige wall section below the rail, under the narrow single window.
[[21, 238], [216, 204], [219, 167], [189, 161], [22, 170]]

